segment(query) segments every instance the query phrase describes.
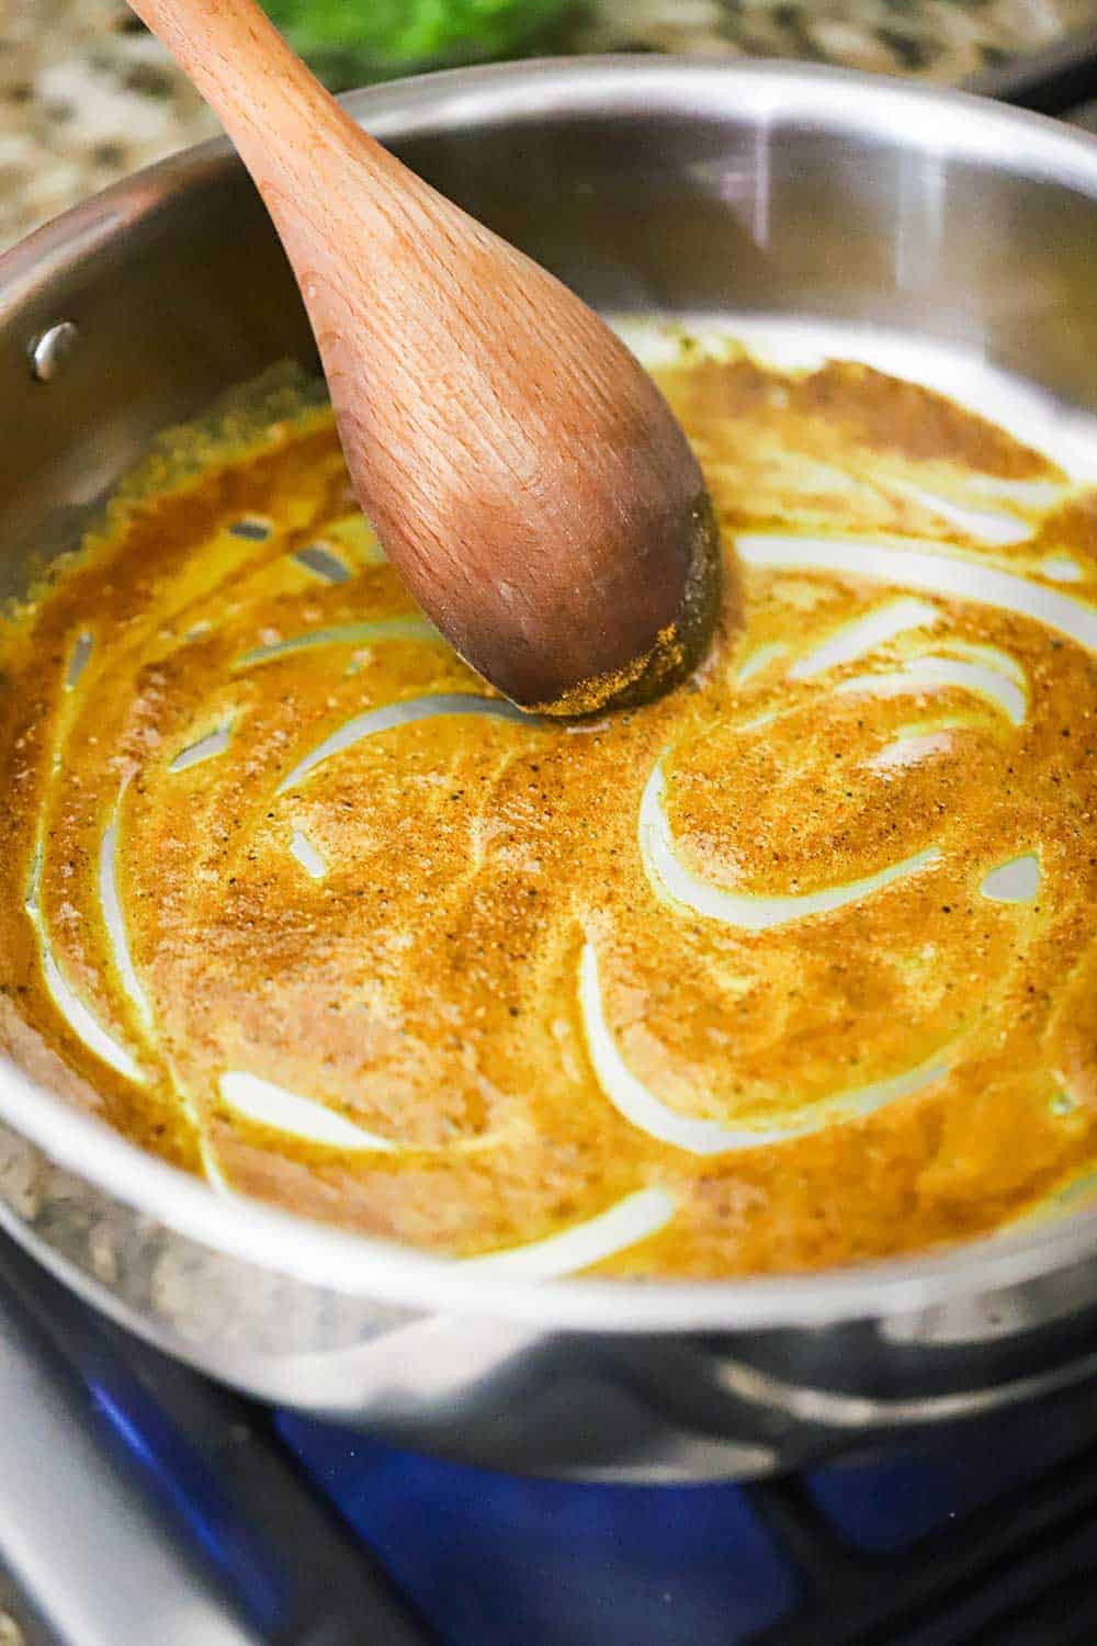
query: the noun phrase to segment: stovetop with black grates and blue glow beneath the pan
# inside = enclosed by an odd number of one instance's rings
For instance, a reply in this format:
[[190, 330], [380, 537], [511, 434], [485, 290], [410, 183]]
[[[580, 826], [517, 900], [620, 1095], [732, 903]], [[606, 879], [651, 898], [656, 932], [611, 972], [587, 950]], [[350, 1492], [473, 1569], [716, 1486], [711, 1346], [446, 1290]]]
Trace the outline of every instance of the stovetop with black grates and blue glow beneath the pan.
[[[1097, 132], [1097, 38], [987, 91]], [[720, 1486], [255, 1406], [0, 1238], [0, 1646], [1094, 1646], [1097, 1384]]]

